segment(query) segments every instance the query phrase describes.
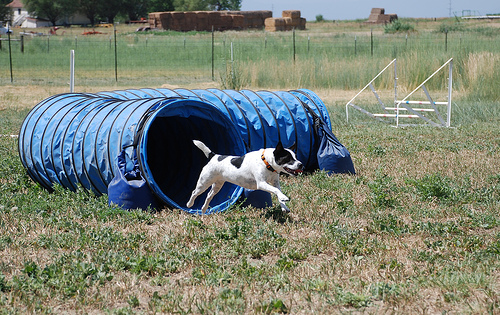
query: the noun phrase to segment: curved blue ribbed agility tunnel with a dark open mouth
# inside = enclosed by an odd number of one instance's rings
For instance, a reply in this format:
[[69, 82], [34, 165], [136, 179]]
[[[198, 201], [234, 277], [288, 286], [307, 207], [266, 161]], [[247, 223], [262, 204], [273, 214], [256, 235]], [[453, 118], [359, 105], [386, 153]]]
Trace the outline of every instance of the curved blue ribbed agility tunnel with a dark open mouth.
[[[286, 147], [297, 142], [298, 159], [314, 170], [319, 147], [314, 117], [331, 129], [323, 102], [309, 90], [67, 93], [49, 97], [31, 110], [21, 127], [19, 153], [30, 177], [43, 187], [81, 186], [97, 195], [107, 193], [124, 163], [131, 169], [137, 162], [162, 203], [201, 213], [205, 195], [193, 209], [185, 206], [207, 162], [193, 139], [231, 155], [274, 147], [278, 141]], [[119, 156], [125, 156], [121, 168]], [[207, 213], [226, 210], [242, 192], [226, 183]]]

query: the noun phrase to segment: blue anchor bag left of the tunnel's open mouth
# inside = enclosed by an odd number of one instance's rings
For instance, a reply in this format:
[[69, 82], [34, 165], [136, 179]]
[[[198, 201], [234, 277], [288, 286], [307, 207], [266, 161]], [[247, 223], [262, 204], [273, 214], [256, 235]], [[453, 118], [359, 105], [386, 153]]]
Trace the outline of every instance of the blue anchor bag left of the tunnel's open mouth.
[[141, 175], [136, 152], [127, 157], [126, 150], [118, 156], [119, 172], [108, 185], [109, 205], [116, 204], [125, 210], [158, 208], [158, 202]]

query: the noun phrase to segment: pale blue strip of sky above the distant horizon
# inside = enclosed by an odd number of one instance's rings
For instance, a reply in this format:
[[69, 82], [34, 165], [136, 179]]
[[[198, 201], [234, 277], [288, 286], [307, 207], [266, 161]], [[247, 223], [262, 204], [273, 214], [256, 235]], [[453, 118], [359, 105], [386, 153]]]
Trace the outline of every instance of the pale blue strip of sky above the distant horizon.
[[270, 10], [281, 17], [283, 10], [300, 10], [308, 21], [318, 14], [326, 20], [367, 19], [372, 8], [384, 8], [385, 13], [398, 17], [433, 18], [462, 16], [463, 10], [479, 15], [500, 13], [499, 0], [242, 0], [241, 10]]

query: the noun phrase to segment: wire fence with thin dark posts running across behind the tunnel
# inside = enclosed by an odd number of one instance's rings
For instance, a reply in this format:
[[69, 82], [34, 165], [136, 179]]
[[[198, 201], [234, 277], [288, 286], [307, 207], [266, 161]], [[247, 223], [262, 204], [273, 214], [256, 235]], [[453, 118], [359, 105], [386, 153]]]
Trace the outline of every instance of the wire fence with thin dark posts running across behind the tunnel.
[[[366, 74], [370, 77], [385, 60], [396, 57], [418, 55], [417, 62], [428, 62], [429, 58], [442, 60], [470, 52], [500, 51], [498, 35], [472, 33], [388, 35], [365, 30], [341, 34], [308, 34], [303, 31], [160, 34], [14, 34], [10, 41], [4, 36], [0, 41], [0, 83], [64, 82], [69, 75], [71, 50], [75, 51], [77, 84], [83, 81], [90, 85], [92, 82], [131, 80], [220, 80], [234, 62], [243, 67], [255, 67], [253, 71], [260, 73], [280, 71], [279, 67], [269, 69], [269, 62], [286, 65], [287, 69], [296, 63], [319, 64], [316, 68], [321, 69], [325, 63], [349, 64], [360, 60], [361, 63], [373, 64], [369, 66], [373, 71]], [[247, 73], [247, 76], [251, 74]], [[331, 86], [332, 80], [323, 82]], [[360, 80], [364, 81], [364, 78]], [[355, 83], [353, 88], [359, 84]]]

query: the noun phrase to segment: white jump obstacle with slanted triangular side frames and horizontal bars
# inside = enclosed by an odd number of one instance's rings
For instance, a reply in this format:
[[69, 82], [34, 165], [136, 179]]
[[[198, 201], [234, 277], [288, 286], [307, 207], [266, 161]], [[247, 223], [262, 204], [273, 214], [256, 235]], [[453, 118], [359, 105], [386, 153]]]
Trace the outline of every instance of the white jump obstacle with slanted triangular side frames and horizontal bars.
[[[375, 90], [373, 86], [373, 82], [381, 76], [384, 71], [386, 71], [391, 65], [394, 65], [394, 107], [387, 107], [380, 96], [378, 95], [377, 91]], [[448, 97], [446, 102], [435, 102], [432, 97], [429, 94], [429, 91], [425, 87], [425, 84], [433, 78], [438, 72], [440, 72], [443, 68], [445, 68], [448, 65]], [[420, 118], [422, 119], [426, 124], [430, 126], [435, 126], [435, 127], [450, 127], [451, 125], [451, 93], [452, 93], [452, 86], [453, 86], [453, 77], [452, 77], [452, 72], [453, 72], [453, 58], [450, 58], [447, 62], [445, 62], [439, 69], [437, 69], [433, 74], [431, 74], [424, 82], [422, 82], [415, 90], [413, 90], [410, 94], [408, 94], [405, 98], [402, 100], [397, 99], [397, 89], [398, 89], [398, 84], [397, 84], [397, 66], [396, 66], [396, 59], [393, 59], [382, 71], [380, 71], [361, 91], [358, 92], [349, 102], [346, 104], [346, 119], [347, 122], [349, 122], [349, 107], [353, 107], [354, 109], [357, 109], [358, 111], [375, 118], [379, 121], [385, 122], [385, 123], [395, 123], [396, 127], [405, 127], [405, 126], [412, 126], [412, 124], [402, 124], [400, 122], [400, 119], [415, 119], [415, 118]], [[373, 95], [377, 99], [379, 105], [381, 106], [383, 113], [371, 113], [368, 110], [362, 108], [361, 106], [358, 106], [354, 104], [354, 100], [367, 88], [370, 88], [371, 91], [373, 92]], [[422, 89], [423, 92], [425, 93], [427, 100], [426, 101], [410, 101], [408, 100], [410, 96], [412, 96], [416, 91], [419, 89]], [[413, 107], [414, 105], [420, 105], [419, 108]], [[438, 110], [438, 106], [446, 106], [446, 112], [445, 112], [445, 118], [443, 118], [443, 115], [441, 112]], [[387, 119], [388, 118], [388, 119]], [[413, 125], [424, 125], [424, 124], [413, 124]]]

